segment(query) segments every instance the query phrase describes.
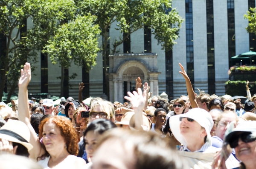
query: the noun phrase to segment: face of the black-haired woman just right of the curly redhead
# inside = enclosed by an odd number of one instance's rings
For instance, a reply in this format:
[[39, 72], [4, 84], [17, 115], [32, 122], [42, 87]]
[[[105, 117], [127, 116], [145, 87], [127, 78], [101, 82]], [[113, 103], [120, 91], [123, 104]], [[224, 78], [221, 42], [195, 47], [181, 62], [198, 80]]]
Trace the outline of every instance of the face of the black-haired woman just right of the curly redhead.
[[88, 131], [84, 137], [85, 141], [85, 151], [87, 153], [87, 157], [92, 158], [93, 153], [95, 150], [96, 145], [98, 144], [99, 141], [99, 133], [94, 132], [93, 130]]

